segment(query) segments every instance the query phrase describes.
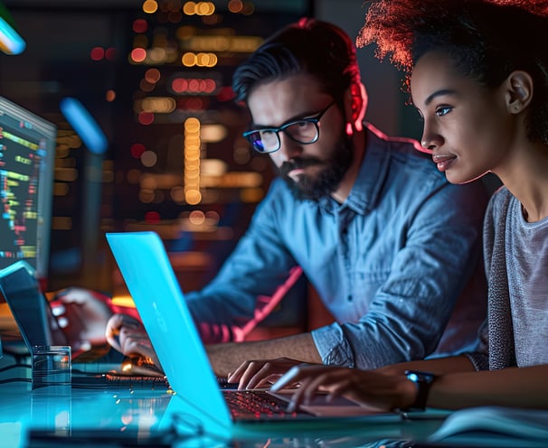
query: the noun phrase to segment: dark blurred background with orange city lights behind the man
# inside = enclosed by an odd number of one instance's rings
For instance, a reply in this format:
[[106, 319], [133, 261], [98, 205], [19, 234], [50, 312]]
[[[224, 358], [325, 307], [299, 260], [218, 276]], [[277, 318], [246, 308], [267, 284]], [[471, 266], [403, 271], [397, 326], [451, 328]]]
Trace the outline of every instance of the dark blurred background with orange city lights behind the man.
[[[104, 233], [136, 229], [158, 231], [183, 289], [199, 288], [231, 252], [268, 190], [273, 176], [269, 158], [252, 154], [242, 140], [249, 117], [233, 104], [228, 89], [232, 70], [249, 52], [219, 51], [213, 68], [184, 68], [181, 55], [189, 51], [183, 48], [184, 33], [262, 39], [308, 15], [337, 23], [355, 37], [365, 13], [355, 0], [244, 2], [244, 11], [251, 8], [252, 14], [231, 12], [234, 0], [217, 0], [213, 16], [177, 16], [173, 12], [186, 2], [157, 3], [158, 12], [145, 14], [141, 0], [4, 1], [26, 49], [19, 55], [0, 53], [0, 95], [59, 129], [49, 290], [76, 285], [124, 295]], [[134, 29], [137, 19], [146, 20], [145, 32]], [[148, 49], [175, 53], [175, 60], [132, 63], [129, 54], [139, 39], [146, 40]], [[98, 48], [109, 57], [94, 61], [93, 49]], [[377, 61], [373, 51], [358, 49], [369, 93], [365, 118], [387, 134], [420, 137], [418, 115], [405, 106], [401, 74], [388, 61]], [[144, 91], [149, 69], [157, 69], [160, 80]], [[170, 79], [181, 74], [217, 79], [219, 87], [213, 95], [175, 95]], [[155, 114], [153, 124], [143, 125], [136, 105], [151, 96], [175, 98], [176, 112]], [[91, 154], [82, 145], [61, 115], [59, 104], [65, 97], [78, 98], [98, 122], [109, 141], [106, 154]], [[187, 117], [225, 130], [220, 141], [202, 142], [202, 166], [213, 159], [213, 165], [222, 164], [224, 174], [217, 186], [202, 188], [203, 201], [197, 204], [174, 199], [184, 182]], [[135, 145], [154, 154], [156, 163], [145, 166], [136, 158]], [[305, 286], [300, 287], [297, 294], [303, 295]]]

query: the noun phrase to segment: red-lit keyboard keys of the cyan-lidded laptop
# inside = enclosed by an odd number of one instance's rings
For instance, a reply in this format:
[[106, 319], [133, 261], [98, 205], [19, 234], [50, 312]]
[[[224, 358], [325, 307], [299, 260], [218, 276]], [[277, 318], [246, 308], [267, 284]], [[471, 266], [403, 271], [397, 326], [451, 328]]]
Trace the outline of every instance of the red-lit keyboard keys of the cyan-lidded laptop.
[[302, 411], [288, 413], [286, 411], [288, 403], [273, 397], [266, 391], [231, 390], [224, 394], [224, 398], [235, 420], [292, 418], [302, 414]]

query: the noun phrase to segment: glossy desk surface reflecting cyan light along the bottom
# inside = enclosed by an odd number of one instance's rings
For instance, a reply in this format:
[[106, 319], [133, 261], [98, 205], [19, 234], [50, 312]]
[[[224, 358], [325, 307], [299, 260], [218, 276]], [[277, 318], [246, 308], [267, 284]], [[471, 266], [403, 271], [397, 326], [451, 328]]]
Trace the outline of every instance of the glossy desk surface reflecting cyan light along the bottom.
[[[0, 359], [0, 368], [6, 359]], [[30, 369], [2, 371], [0, 379], [28, 378]], [[271, 423], [234, 425], [229, 431], [219, 430], [203, 419], [183, 397], [165, 390], [82, 389], [72, 387], [64, 395], [52, 396], [45, 391], [32, 391], [27, 381], [0, 384], [0, 446], [26, 448], [34, 446], [59, 446], [51, 438], [40, 439], [41, 430], [48, 437], [80, 436], [82, 446], [176, 446], [176, 447], [342, 447], [342, 448], [403, 448], [427, 446], [424, 442], [443, 423], [447, 413], [430, 412], [411, 420], [373, 423], [360, 420], [326, 423]], [[169, 431], [169, 430], [172, 431]], [[178, 438], [165, 438], [175, 435]], [[546, 438], [538, 443], [531, 441], [491, 440], [490, 436], [468, 438], [468, 443], [451, 443], [446, 446], [546, 446]], [[33, 435], [32, 439], [29, 438]], [[158, 438], [159, 436], [162, 436]], [[118, 444], [116, 441], [118, 439]], [[128, 444], [128, 440], [133, 444]], [[42, 441], [42, 443], [39, 443]], [[472, 443], [470, 443], [470, 441]], [[148, 444], [146, 444], [148, 443]], [[65, 443], [64, 446], [67, 446]], [[74, 444], [71, 444], [74, 446]], [[428, 446], [434, 446], [430, 444]], [[435, 445], [442, 446], [442, 445]]]

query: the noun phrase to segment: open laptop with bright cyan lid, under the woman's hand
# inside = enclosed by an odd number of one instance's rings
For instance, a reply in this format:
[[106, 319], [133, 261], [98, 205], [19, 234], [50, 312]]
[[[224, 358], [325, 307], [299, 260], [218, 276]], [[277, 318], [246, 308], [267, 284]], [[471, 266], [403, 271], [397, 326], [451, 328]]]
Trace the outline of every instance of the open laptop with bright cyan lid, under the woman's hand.
[[[162, 240], [155, 232], [107, 233], [109, 246], [129, 293], [131, 294], [156, 355], [175, 394], [183, 397], [185, 406], [197, 408], [208, 419], [230, 428], [237, 423], [272, 421], [317, 421], [318, 418], [352, 417], [360, 422], [394, 422], [397, 413], [368, 411], [352, 402], [318, 403], [304, 407], [302, 413], [284, 413], [287, 399], [283, 394], [265, 390], [222, 390], [217, 383], [203, 341], [184, 300]], [[274, 415], [247, 415], [235, 411], [231, 396], [269, 395], [272, 401], [282, 400], [282, 408]], [[287, 396], [286, 396], [287, 397]], [[183, 404], [181, 404], [183, 406]], [[302, 407], [302, 406], [301, 406]]]

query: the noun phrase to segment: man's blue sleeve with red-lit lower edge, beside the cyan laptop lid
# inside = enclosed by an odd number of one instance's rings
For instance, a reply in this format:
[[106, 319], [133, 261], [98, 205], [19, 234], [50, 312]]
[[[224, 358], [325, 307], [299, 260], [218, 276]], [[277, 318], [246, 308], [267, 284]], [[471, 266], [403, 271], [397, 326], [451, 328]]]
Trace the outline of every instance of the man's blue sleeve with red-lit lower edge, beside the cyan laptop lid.
[[280, 240], [278, 191], [279, 182], [275, 181], [213, 281], [202, 291], [186, 294], [206, 343], [242, 341], [302, 273]]

